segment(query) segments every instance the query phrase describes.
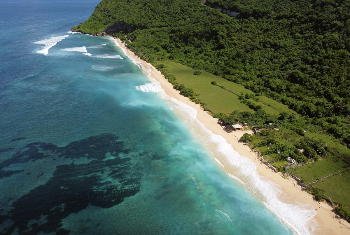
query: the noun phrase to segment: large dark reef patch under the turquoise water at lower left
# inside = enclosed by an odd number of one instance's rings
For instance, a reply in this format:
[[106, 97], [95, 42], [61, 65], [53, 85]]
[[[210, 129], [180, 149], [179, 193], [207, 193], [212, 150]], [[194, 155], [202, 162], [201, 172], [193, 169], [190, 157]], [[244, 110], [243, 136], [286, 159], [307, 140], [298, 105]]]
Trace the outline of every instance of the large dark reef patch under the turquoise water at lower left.
[[[110, 208], [140, 191], [140, 175], [132, 169], [123, 141], [113, 134], [100, 134], [74, 141], [64, 147], [49, 143], [30, 143], [0, 164], [0, 177], [19, 171], [5, 171], [4, 167], [47, 157], [71, 159], [70, 165], [58, 165], [45, 184], [21, 196], [6, 215], [0, 215], [1, 234], [38, 234], [40, 232], [68, 234], [62, 219], [85, 209], [88, 205]], [[106, 153], [111, 157], [106, 159]], [[75, 165], [74, 159], [92, 159]], [[2, 209], [0, 208], [0, 213]], [[4, 226], [8, 224], [8, 226]], [[6, 228], [4, 228], [6, 227]]]

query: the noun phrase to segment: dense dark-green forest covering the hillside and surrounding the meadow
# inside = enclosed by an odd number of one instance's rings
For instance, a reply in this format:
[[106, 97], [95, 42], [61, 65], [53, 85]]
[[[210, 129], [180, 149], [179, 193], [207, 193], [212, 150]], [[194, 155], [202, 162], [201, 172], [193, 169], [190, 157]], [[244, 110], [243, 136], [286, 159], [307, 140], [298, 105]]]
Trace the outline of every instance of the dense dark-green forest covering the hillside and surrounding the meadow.
[[[216, 8], [236, 12], [236, 17]], [[237, 95], [252, 112], [232, 110], [215, 117], [224, 123], [281, 125], [280, 137], [266, 130], [253, 143], [275, 160], [322, 156], [342, 161], [338, 166], [346, 169], [349, 151], [336, 144], [350, 144], [349, 9], [350, 0], [103, 0], [89, 20], [72, 30], [120, 37], [159, 68], [161, 61], [177, 62], [197, 70], [198, 77], [203, 70], [243, 85], [251, 93]], [[196, 90], [177, 83], [166, 70], [162, 73], [198, 102]], [[259, 97], [285, 104], [297, 115], [267, 113], [254, 103]], [[306, 130], [313, 134], [305, 136]], [[326, 145], [322, 135], [337, 143], [329, 140], [333, 146]]]

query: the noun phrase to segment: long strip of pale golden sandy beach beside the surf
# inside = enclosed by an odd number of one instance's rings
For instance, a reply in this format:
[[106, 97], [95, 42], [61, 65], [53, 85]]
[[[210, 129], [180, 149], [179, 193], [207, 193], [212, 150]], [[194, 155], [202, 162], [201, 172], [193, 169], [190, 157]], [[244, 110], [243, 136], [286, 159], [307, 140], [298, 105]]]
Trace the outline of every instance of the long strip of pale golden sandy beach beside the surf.
[[[244, 133], [252, 133], [252, 131], [248, 130], [228, 133], [223, 130], [222, 126], [217, 124], [217, 119], [205, 112], [199, 104], [190, 102], [187, 97], [180, 95], [179, 91], [173, 89], [172, 84], [161, 75], [160, 71], [156, 70], [151, 64], [142, 61], [139, 57], [133, 54], [132, 51], [126, 48], [120, 39], [115, 39], [118, 46], [129, 58], [136, 61], [138, 64], [142, 63], [142, 67], [144, 67], [145, 70], [151, 71], [150, 76], [161, 84], [161, 88], [168, 96], [194, 108], [197, 111], [197, 119], [203, 123], [208, 130], [224, 137], [227, 143], [232, 145], [233, 150], [256, 164], [257, 172], [261, 179], [275, 182], [281, 190], [281, 193], [278, 194], [279, 200], [296, 205], [311, 205], [314, 210], [316, 210], [316, 215], [311, 219], [311, 223], [308, 224], [307, 229], [310, 234], [350, 234], [350, 224], [347, 221], [340, 219], [328, 203], [315, 201], [312, 195], [301, 190], [301, 187], [297, 185], [297, 182], [294, 179], [291, 177], [285, 178], [281, 173], [273, 172], [271, 169], [266, 168], [266, 165], [260, 164], [261, 161], [258, 159], [257, 154], [252, 152], [244, 143], [238, 141]], [[218, 160], [223, 163], [223, 170], [230, 173], [230, 166], [226, 167], [224, 161], [221, 161], [221, 159]]]

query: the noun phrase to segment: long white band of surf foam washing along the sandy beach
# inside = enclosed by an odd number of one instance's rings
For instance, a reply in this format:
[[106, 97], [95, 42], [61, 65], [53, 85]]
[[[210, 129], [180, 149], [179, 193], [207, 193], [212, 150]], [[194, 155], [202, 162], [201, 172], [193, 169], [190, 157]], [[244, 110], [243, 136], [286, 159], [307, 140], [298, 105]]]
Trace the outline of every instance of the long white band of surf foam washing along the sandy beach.
[[[150, 74], [148, 74], [150, 75]], [[149, 80], [160, 85], [154, 78]], [[316, 215], [316, 210], [309, 204], [290, 204], [279, 200], [283, 192], [274, 182], [262, 180], [257, 173], [257, 166], [250, 159], [239, 155], [232, 146], [226, 142], [224, 137], [213, 134], [204, 124], [196, 118], [197, 111], [190, 106], [169, 97], [164, 90], [159, 91], [159, 97], [173, 101], [176, 104], [177, 113], [182, 116], [182, 120], [190, 127], [191, 132], [203, 145], [214, 145], [214, 155], [220, 155], [226, 159], [227, 164], [236, 169], [238, 177], [229, 175], [229, 177], [238, 180], [253, 195], [257, 196], [264, 205], [271, 210], [288, 227], [292, 228], [297, 234], [310, 234], [314, 230], [312, 218]], [[198, 132], [201, 132], [198, 134]], [[196, 134], [197, 133], [197, 134]]]

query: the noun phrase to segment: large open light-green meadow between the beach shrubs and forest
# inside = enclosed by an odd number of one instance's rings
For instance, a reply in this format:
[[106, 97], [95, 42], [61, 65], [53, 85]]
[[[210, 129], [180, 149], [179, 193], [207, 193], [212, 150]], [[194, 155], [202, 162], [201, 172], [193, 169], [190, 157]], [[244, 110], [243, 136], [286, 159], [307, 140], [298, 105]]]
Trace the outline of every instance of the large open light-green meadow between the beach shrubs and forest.
[[[170, 62], [170, 61], [158, 61], [165, 65], [164, 70], [171, 72], [176, 77], [176, 82], [182, 83], [186, 88], [192, 88], [196, 94], [200, 94], [198, 99], [206, 105], [208, 109], [214, 113], [232, 113], [235, 110], [254, 112], [253, 109], [248, 108], [247, 105], [240, 103], [238, 95], [242, 92], [244, 94], [252, 94], [253, 92], [245, 89], [242, 85], [230, 82], [222, 77], [215, 76], [209, 72], [201, 70], [201, 75], [194, 75], [196, 70], [186, 67], [185, 65]], [[230, 91], [226, 91], [219, 86], [212, 85], [211, 81], [216, 81], [221, 87], [224, 87]], [[280, 112], [287, 111], [293, 112], [288, 109], [287, 105], [283, 105], [274, 101], [273, 99], [267, 97], [258, 97], [261, 102], [255, 102], [255, 104], [260, 104], [262, 109], [267, 113], [278, 116]], [[293, 112], [294, 113], [294, 112]]]

